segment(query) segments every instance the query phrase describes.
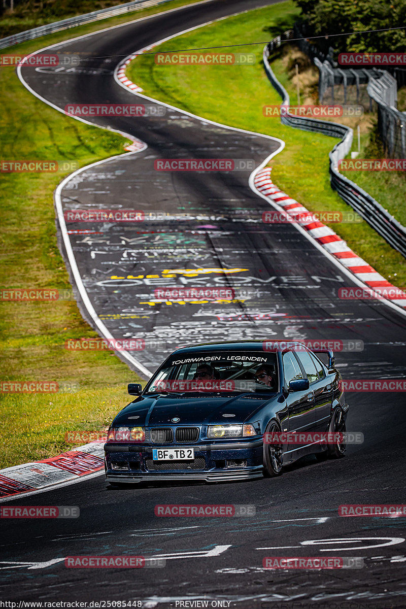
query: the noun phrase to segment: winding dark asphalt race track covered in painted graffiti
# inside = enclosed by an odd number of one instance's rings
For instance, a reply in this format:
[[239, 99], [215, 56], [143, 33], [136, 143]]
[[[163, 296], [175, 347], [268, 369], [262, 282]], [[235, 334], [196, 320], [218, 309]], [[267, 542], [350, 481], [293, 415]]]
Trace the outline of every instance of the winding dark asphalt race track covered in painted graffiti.
[[[250, 8], [267, 4], [253, 0]], [[137, 96], [113, 79], [119, 59], [245, 9], [246, 1], [217, 0], [63, 43], [61, 52], [89, 53], [86, 68], [95, 73], [24, 67], [23, 78], [59, 108], [69, 102], [135, 103]], [[69, 233], [72, 251], [94, 310], [111, 335], [145, 339], [145, 349], [132, 353], [134, 369], [152, 371], [171, 348], [205, 340], [337, 339], [363, 343], [363, 350], [336, 354], [344, 378], [405, 378], [405, 316], [382, 302], [340, 300], [338, 288], [355, 284], [295, 227], [262, 222], [269, 205], [251, 191], [249, 171], [154, 169], [159, 158], [239, 158], [257, 166], [278, 149], [277, 141], [170, 108], [160, 117], [90, 120], [133, 135], [147, 147], [66, 181], [63, 211], [169, 214], [139, 226], [67, 225], [69, 231], [97, 233]], [[205, 305], [154, 302], [154, 290], [169, 286], [233, 287], [237, 294], [249, 289], [249, 295], [243, 302]], [[319, 463], [307, 457], [278, 479], [238, 484], [116, 490], [100, 474], [16, 499], [13, 505], [78, 505], [80, 518], [2, 521], [0, 598], [141, 600], [142, 607], [165, 609], [202, 599], [209, 607], [215, 606], [212, 601], [264, 609], [405, 607], [405, 519], [338, 516], [341, 504], [405, 502], [404, 393], [347, 397], [347, 429], [363, 432], [365, 442], [350, 445], [345, 459]], [[156, 504], [178, 503], [254, 504], [256, 515], [155, 516]], [[65, 557], [84, 554], [163, 557], [166, 566], [65, 567]], [[361, 557], [364, 566], [269, 571], [262, 568], [266, 556]]]

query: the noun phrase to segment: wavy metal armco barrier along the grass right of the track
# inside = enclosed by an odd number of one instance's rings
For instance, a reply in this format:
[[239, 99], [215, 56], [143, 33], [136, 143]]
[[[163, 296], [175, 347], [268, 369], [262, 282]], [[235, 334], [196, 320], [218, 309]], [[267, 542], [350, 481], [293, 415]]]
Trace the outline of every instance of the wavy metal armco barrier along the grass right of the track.
[[[276, 78], [268, 61], [270, 49], [279, 46], [280, 41], [281, 38], [278, 37], [278, 39], [275, 38], [265, 46], [263, 59], [268, 79], [282, 97], [281, 107], [289, 107], [289, 95]], [[352, 129], [335, 122], [296, 116], [289, 112], [285, 112], [281, 116], [281, 122], [284, 125], [303, 131], [313, 131], [341, 138], [341, 141], [335, 144], [329, 153], [331, 187], [338, 192], [341, 199], [348, 203], [348, 205], [351, 205], [377, 233], [406, 258], [406, 228], [397, 222], [368, 192], [365, 192], [338, 171], [338, 161], [340, 158], [345, 158], [351, 150]]]

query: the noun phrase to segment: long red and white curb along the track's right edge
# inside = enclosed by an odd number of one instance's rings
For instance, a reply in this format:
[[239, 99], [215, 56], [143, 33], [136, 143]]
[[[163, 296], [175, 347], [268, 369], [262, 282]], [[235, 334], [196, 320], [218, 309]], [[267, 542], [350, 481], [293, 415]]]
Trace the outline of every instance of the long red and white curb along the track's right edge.
[[[291, 199], [285, 192], [279, 190], [277, 186], [271, 180], [271, 167], [264, 167], [260, 169], [254, 177], [254, 185], [259, 192], [262, 193], [268, 199], [276, 205], [279, 205], [283, 211], [289, 213], [295, 211], [295, 213], [311, 214], [301, 203], [298, 203], [295, 199]], [[327, 227], [323, 222], [308, 222], [300, 223], [304, 230], [317, 241], [321, 247], [324, 248], [329, 254], [335, 257], [349, 272], [352, 273], [358, 280], [365, 283], [365, 286], [369, 289], [377, 292], [377, 296], [383, 292], [383, 297], [387, 300], [391, 300], [394, 304], [401, 308], [406, 308], [406, 293], [402, 292], [404, 298], [399, 298], [399, 289], [396, 288], [389, 281], [385, 280], [385, 277], [376, 272], [368, 262], [365, 262], [362, 258], [359, 258], [351, 248], [348, 247], [345, 241], [341, 239], [332, 230]], [[396, 300], [392, 300], [390, 296], [385, 294], [388, 288], [396, 290]], [[381, 297], [382, 298], [382, 297]]]

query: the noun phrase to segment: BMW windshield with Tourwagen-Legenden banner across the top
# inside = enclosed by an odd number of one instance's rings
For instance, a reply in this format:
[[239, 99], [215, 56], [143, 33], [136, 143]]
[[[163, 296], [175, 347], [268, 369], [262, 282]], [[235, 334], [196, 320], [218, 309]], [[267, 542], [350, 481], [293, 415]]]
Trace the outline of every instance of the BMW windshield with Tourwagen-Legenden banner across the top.
[[275, 353], [226, 351], [177, 356], [155, 373], [145, 393], [276, 392]]

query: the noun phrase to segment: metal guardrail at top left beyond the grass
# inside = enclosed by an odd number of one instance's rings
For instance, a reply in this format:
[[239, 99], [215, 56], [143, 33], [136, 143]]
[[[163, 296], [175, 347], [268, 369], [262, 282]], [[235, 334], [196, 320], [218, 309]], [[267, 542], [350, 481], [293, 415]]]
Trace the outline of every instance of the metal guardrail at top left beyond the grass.
[[26, 30], [25, 32], [19, 32], [6, 38], [0, 38], [0, 49], [5, 49], [14, 44], [25, 42], [26, 40], [33, 40], [34, 38], [40, 38], [47, 34], [54, 32], [60, 32], [60, 30], [66, 30], [71, 27], [82, 26], [85, 23], [91, 23], [91, 21], [99, 21], [99, 19], [107, 19], [108, 17], [114, 17], [116, 15], [122, 15], [122, 13], [128, 13], [133, 10], [145, 9], [150, 6], [156, 6], [158, 4], [164, 4], [170, 2], [170, 0], [133, 0], [133, 2], [126, 2], [125, 4], [119, 4], [109, 9], [94, 10], [91, 13], [85, 13], [85, 15], [78, 15], [77, 17], [70, 17], [69, 19], [62, 19], [61, 21], [54, 21], [53, 23], [47, 23], [44, 26], [34, 27], [32, 30]]

